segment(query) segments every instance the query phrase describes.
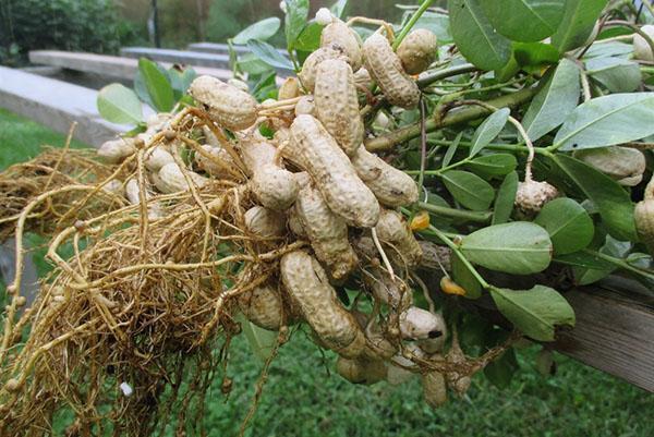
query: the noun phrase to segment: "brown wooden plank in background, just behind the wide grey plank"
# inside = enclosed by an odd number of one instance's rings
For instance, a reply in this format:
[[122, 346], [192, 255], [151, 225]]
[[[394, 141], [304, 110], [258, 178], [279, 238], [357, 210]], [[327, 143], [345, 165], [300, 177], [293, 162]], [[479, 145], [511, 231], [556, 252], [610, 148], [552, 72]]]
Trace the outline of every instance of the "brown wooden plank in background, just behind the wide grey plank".
[[[33, 50], [29, 52], [29, 62], [126, 81], [133, 81], [138, 71], [137, 59], [59, 50]], [[169, 69], [172, 63], [161, 62], [161, 65]], [[207, 74], [225, 81], [232, 76], [231, 71], [225, 69], [195, 65], [193, 69], [197, 74]]]

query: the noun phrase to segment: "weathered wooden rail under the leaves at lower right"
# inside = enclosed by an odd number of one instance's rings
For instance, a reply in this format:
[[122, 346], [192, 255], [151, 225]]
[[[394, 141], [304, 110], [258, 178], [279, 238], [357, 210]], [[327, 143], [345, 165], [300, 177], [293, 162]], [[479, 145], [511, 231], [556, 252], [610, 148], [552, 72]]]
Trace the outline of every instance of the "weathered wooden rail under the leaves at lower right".
[[[609, 278], [562, 293], [574, 309], [574, 328], [543, 343], [580, 362], [654, 392], [654, 296], [634, 281]], [[489, 321], [510, 328], [492, 299], [467, 303]]]

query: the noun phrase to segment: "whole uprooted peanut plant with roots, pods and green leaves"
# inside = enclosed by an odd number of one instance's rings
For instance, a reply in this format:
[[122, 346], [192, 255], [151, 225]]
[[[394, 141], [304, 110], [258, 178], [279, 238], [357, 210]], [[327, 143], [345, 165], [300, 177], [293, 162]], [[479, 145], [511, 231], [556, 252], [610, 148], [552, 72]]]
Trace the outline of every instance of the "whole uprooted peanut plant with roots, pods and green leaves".
[[[287, 26], [305, 14], [282, 4]], [[185, 435], [211, 376], [226, 396], [242, 384], [230, 375], [240, 335], [264, 360], [241, 434], [300, 335], [337, 377], [414, 377], [438, 408], [520, 336], [553, 341], [572, 326], [555, 288], [593, 281], [597, 259], [654, 281], [654, 182], [643, 182], [654, 129], [615, 122], [654, 118], [651, 96], [609, 89], [651, 81], [607, 81], [592, 66], [608, 45], [592, 40], [566, 47], [574, 62], [537, 65], [523, 45], [509, 77], [511, 50], [461, 44], [461, 11], [448, 19], [453, 44], [415, 29], [433, 24], [419, 20], [429, 4], [403, 26], [323, 8], [284, 29], [288, 56], [256, 37], [242, 54], [250, 29], [230, 43], [234, 77], [175, 66], [165, 77], [175, 101], [150, 98], [164, 107], [145, 119], [122, 111], [129, 133], [0, 173], [0, 235], [15, 236], [17, 271], [1, 318], [0, 435], [52, 434], [64, 411], [70, 435], [145, 437], [173, 414]], [[25, 232], [49, 239], [55, 267], [34, 302], [21, 295]], [[483, 321], [491, 311], [513, 332], [495, 336], [506, 326]], [[483, 323], [505, 340], [473, 344]]]

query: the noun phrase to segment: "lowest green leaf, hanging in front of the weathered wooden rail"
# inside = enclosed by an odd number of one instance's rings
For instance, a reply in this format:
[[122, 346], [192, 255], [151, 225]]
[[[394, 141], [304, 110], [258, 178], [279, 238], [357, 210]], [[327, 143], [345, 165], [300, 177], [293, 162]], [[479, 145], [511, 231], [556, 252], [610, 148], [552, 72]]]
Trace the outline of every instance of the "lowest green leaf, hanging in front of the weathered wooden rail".
[[516, 328], [538, 341], [554, 341], [557, 326], [574, 326], [574, 311], [556, 290], [535, 286], [531, 290], [493, 287], [491, 295]]

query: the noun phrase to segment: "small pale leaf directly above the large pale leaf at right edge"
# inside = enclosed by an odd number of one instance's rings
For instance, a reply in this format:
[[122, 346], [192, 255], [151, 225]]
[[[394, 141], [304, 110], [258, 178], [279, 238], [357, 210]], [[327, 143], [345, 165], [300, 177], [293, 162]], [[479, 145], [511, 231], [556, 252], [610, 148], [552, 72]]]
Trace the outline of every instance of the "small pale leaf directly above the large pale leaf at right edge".
[[630, 93], [640, 86], [638, 63], [620, 58], [593, 58], [586, 61], [588, 74], [611, 93]]

